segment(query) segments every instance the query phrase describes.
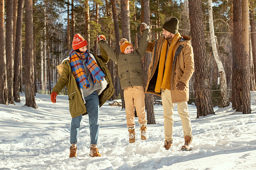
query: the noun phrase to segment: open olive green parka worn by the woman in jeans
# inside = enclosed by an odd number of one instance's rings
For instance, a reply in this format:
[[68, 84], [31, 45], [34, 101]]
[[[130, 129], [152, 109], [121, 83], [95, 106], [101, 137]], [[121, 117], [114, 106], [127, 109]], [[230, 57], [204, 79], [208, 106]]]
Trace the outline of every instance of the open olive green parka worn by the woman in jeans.
[[[101, 107], [106, 101], [108, 101], [114, 94], [114, 86], [112, 83], [110, 71], [105, 65], [105, 63], [109, 62], [109, 57], [105, 54], [104, 51], [101, 51], [101, 53], [101, 56], [96, 56], [95, 54], [91, 53], [95, 57], [101, 70], [104, 72], [104, 78], [108, 83], [106, 88], [99, 95], [99, 107]], [[64, 59], [62, 63], [57, 66], [57, 69], [61, 76], [58, 79], [57, 84], [53, 87], [52, 92], [55, 91], [58, 94], [65, 86], [67, 86], [69, 96], [69, 110], [71, 117], [76, 117], [81, 114], [88, 114], [86, 106], [84, 105], [81, 90], [76, 83], [75, 76], [70, 67], [69, 59]]]

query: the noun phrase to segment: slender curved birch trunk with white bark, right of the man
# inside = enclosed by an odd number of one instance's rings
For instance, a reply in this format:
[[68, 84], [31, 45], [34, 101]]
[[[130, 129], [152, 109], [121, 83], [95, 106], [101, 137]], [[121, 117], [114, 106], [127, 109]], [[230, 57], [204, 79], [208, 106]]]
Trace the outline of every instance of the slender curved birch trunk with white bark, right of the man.
[[212, 46], [212, 52], [214, 53], [214, 58], [217, 63], [219, 74], [220, 74], [220, 92], [221, 92], [221, 104], [220, 107], [229, 106], [229, 100], [227, 95], [227, 79], [225, 69], [223, 67], [222, 61], [218, 55], [216, 41], [215, 41], [215, 33], [214, 33], [214, 21], [212, 17], [212, 5], [211, 0], [208, 0], [209, 6], [209, 28], [210, 28], [210, 41]]

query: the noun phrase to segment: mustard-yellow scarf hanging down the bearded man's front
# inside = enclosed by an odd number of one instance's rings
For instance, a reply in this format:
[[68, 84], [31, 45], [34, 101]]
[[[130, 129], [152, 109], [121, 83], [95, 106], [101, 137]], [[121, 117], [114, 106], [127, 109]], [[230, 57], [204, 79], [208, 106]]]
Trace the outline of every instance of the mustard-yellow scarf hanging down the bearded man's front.
[[172, 75], [173, 61], [174, 61], [174, 55], [175, 55], [174, 49], [177, 46], [180, 37], [181, 37], [180, 33], [177, 33], [174, 36], [172, 43], [170, 44], [165, 68], [164, 68], [164, 64], [165, 64], [168, 41], [164, 40], [164, 42], [163, 42], [163, 45], [161, 48], [161, 54], [160, 54], [160, 61], [159, 61], [159, 67], [158, 67], [158, 75], [157, 75], [157, 83], [156, 83], [156, 87], [155, 87], [155, 92], [161, 92], [161, 88], [163, 90], [165, 90], [165, 89], [170, 90], [170, 78]]

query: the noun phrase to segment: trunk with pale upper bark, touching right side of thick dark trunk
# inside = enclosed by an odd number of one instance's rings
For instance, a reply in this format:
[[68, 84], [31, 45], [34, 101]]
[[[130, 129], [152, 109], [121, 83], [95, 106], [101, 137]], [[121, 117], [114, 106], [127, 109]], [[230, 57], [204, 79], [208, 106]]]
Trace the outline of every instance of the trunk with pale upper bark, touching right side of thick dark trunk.
[[251, 113], [250, 101], [250, 55], [249, 55], [249, 11], [248, 0], [242, 1], [242, 44], [244, 46], [243, 65], [243, 114]]

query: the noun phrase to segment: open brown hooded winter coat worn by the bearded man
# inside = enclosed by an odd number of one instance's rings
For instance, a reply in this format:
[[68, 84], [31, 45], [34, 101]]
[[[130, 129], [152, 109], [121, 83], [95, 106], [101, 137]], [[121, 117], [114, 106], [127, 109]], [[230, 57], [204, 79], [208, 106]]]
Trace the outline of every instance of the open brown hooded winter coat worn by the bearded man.
[[[176, 45], [175, 54], [179, 51], [181, 47], [182, 50], [176, 58], [175, 64], [173, 65], [172, 77], [170, 79], [170, 93], [172, 95], [173, 103], [176, 102], [185, 102], [189, 100], [189, 79], [193, 75], [194, 72], [194, 54], [193, 54], [193, 47], [190, 44], [190, 37], [181, 35], [180, 41]], [[155, 92], [157, 74], [158, 74], [158, 65], [159, 59], [161, 54], [161, 48], [164, 41], [164, 36], [160, 37], [157, 40], [157, 46], [155, 47], [154, 42], [148, 43], [146, 52], [153, 53], [152, 55], [152, 62], [148, 68], [147, 72], [147, 80], [145, 85], [145, 92], [152, 93], [161, 96], [161, 92]], [[155, 50], [156, 49], [156, 50]], [[177, 51], [178, 50], [178, 51]], [[176, 56], [175, 55], [175, 56]], [[175, 57], [174, 57], [175, 58]], [[181, 81], [183, 82], [186, 87], [184, 91], [176, 90], [176, 84]]]

